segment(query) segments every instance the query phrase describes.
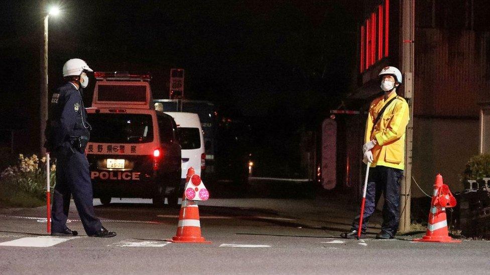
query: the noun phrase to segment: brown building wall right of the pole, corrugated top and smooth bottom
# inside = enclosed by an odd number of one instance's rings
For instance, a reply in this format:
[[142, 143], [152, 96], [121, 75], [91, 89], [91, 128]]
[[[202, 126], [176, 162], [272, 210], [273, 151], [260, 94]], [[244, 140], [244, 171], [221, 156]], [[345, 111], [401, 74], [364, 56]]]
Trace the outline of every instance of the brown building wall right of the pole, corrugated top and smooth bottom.
[[[441, 173], [452, 191], [478, 153], [478, 103], [490, 97], [490, 33], [416, 28], [412, 174], [427, 192]], [[413, 197], [423, 196], [412, 183]]]

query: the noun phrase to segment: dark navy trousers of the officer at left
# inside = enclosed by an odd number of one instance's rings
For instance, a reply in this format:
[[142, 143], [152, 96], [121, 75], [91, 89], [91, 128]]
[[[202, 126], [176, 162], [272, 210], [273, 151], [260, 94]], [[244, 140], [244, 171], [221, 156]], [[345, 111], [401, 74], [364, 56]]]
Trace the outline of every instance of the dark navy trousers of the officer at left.
[[85, 232], [88, 235], [94, 234], [101, 229], [102, 224], [93, 209], [92, 182], [87, 157], [68, 144], [63, 145], [56, 152], [56, 157], [56, 186], [51, 211], [51, 230], [62, 232], [66, 228], [70, 197], [73, 195]]

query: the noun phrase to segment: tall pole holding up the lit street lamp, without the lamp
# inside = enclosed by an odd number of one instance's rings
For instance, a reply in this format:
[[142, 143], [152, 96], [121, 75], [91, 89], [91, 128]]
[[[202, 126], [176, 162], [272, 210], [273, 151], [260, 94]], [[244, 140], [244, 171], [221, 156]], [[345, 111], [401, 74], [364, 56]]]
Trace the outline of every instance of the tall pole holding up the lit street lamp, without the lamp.
[[44, 131], [46, 129], [46, 120], [48, 120], [48, 21], [49, 14], [46, 13], [46, 0], [41, 2], [41, 9], [44, 16], [44, 32], [43, 32], [43, 44], [41, 47], [41, 92], [39, 102], [39, 122], [40, 122], [40, 138], [39, 138], [39, 152], [41, 156], [46, 155], [46, 148], [44, 148], [44, 141], [46, 139]]

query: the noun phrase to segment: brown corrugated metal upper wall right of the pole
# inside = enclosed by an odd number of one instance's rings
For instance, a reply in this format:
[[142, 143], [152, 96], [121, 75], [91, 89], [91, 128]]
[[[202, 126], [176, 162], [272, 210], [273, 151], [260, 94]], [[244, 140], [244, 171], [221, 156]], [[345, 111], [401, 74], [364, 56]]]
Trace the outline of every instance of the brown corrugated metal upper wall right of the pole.
[[414, 115], [478, 116], [490, 96], [490, 33], [451, 29], [415, 31]]

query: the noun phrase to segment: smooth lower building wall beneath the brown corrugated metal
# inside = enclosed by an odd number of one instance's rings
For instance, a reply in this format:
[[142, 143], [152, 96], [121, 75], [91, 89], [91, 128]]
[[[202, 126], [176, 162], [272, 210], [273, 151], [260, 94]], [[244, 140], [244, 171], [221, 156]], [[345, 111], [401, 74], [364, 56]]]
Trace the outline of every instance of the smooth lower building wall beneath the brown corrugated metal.
[[[428, 194], [437, 173], [452, 192], [461, 191], [459, 176], [469, 158], [478, 153], [476, 119], [414, 118], [412, 176]], [[424, 194], [412, 181], [412, 197]]]

